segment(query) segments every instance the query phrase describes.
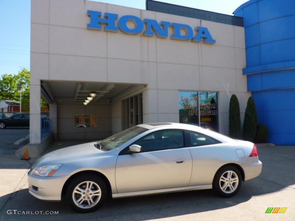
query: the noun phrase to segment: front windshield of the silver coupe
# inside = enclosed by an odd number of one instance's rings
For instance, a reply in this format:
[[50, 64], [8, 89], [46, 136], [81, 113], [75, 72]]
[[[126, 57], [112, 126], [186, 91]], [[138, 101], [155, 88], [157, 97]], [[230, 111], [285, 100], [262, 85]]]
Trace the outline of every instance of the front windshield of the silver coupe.
[[109, 138], [106, 138], [95, 145], [98, 145], [100, 149], [103, 151], [113, 150], [147, 130], [148, 129], [138, 126], [131, 127], [127, 130], [110, 136]]

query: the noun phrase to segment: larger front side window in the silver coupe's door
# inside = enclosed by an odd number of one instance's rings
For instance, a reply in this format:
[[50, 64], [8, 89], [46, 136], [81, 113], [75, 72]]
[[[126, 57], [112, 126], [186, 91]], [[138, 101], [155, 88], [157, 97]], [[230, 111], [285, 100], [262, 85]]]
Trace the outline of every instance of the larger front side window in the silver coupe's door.
[[182, 130], [155, 131], [135, 141], [141, 152], [177, 149], [184, 146]]

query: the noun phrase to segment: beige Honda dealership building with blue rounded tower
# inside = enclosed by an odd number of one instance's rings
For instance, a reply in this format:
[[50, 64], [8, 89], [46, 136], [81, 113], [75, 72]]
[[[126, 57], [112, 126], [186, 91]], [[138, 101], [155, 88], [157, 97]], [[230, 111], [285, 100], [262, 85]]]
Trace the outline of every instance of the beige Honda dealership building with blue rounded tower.
[[148, 122], [228, 134], [233, 94], [241, 122], [252, 95], [269, 141], [295, 144], [293, 1], [250, 0], [234, 16], [152, 0], [146, 9], [31, 1], [30, 144], [99, 140]]

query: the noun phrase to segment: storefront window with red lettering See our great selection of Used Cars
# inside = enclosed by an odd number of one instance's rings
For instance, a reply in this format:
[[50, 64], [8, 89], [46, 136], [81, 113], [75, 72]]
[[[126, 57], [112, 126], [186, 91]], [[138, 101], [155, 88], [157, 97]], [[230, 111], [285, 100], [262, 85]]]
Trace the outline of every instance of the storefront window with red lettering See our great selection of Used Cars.
[[179, 91], [179, 122], [218, 131], [217, 92]]

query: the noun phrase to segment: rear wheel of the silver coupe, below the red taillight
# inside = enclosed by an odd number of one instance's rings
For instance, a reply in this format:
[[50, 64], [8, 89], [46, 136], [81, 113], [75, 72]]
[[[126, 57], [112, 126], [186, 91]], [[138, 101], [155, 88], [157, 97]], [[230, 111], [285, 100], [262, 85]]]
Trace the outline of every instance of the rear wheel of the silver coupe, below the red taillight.
[[[232, 176], [230, 177], [230, 171], [233, 171]], [[223, 176], [224, 175], [224, 176]], [[221, 177], [227, 177], [231, 179], [225, 179], [224, 182], [221, 181]], [[238, 183], [233, 182], [238, 180]], [[239, 192], [242, 185], [242, 175], [240, 171], [234, 166], [225, 166], [219, 169], [213, 180], [213, 189], [222, 197], [232, 197], [233, 195]], [[224, 187], [222, 189], [222, 187]]]

